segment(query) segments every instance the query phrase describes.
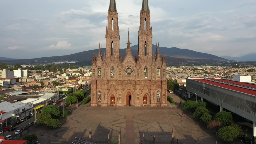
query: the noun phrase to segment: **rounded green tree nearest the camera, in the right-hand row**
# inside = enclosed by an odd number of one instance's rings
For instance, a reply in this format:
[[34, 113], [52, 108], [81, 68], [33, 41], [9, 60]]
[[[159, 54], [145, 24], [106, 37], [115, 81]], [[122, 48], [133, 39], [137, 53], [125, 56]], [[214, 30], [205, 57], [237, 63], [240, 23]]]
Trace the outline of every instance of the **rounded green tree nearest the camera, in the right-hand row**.
[[226, 126], [219, 129], [218, 135], [222, 140], [230, 142], [238, 137], [239, 132], [234, 127]]

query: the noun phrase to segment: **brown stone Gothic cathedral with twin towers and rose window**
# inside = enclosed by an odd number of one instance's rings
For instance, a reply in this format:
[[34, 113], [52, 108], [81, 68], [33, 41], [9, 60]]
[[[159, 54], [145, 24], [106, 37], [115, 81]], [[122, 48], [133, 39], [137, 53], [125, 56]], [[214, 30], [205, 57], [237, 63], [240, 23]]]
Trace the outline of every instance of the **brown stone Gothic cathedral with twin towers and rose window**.
[[129, 32], [124, 60], [119, 52], [116, 1], [110, 0], [106, 27], [106, 54], [93, 53], [91, 107], [167, 107], [165, 54], [152, 52], [148, 0], [142, 1], [138, 55], [131, 54]]

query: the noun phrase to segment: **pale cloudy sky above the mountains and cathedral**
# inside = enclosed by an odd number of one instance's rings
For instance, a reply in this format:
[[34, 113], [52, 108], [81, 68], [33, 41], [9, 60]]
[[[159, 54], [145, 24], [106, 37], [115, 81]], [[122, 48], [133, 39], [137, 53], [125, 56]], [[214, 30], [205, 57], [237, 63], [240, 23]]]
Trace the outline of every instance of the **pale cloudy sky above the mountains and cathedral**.
[[[116, 0], [120, 48], [137, 44], [142, 0]], [[38, 58], [105, 47], [109, 0], [1, 0], [0, 56]], [[256, 49], [255, 0], [149, 0], [153, 44], [217, 56]]]

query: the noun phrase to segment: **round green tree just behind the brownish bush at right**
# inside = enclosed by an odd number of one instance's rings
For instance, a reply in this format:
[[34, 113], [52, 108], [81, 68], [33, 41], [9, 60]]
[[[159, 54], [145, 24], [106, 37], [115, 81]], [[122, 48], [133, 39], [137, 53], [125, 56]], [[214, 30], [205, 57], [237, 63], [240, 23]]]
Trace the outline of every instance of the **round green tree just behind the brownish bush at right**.
[[215, 119], [221, 121], [222, 126], [229, 126], [233, 123], [232, 114], [227, 111], [217, 112], [215, 115]]

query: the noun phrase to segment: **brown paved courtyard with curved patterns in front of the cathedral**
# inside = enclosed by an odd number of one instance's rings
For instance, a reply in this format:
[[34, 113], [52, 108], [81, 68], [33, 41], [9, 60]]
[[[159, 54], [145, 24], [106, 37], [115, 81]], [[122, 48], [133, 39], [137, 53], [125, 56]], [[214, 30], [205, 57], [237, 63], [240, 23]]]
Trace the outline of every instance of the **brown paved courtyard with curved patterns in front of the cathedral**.
[[[177, 105], [178, 106], [178, 105]], [[179, 107], [179, 106], [178, 106]], [[179, 144], [218, 144], [223, 143], [213, 131], [204, 125], [195, 125], [189, 116], [181, 117], [182, 111], [172, 107], [86, 107], [73, 108], [73, 112], [61, 128], [49, 130], [43, 125], [38, 126], [31, 134], [38, 135], [38, 141], [47, 143], [72, 142], [76, 137], [89, 140], [91, 126], [92, 141], [106, 143], [110, 134], [111, 143], [139, 144], [144, 134], [145, 143], [152, 144], [155, 134], [156, 144], [170, 144], [172, 128], [174, 127], [175, 141]], [[86, 110], [88, 109], [88, 110]], [[63, 119], [60, 119], [63, 122]], [[43, 134], [44, 136], [40, 135]]]

